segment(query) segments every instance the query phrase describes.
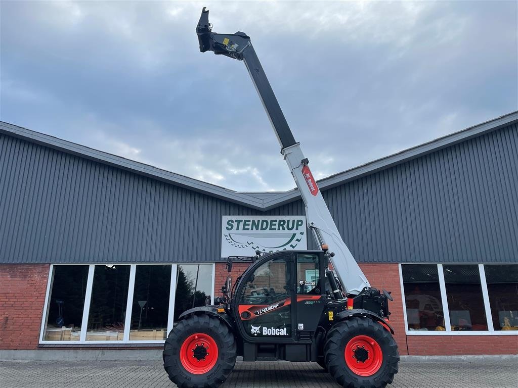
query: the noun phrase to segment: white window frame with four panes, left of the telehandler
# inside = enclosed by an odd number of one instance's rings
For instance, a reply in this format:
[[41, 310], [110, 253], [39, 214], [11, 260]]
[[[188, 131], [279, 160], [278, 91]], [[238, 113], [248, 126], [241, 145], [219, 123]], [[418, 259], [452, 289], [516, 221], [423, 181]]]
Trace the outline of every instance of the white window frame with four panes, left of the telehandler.
[[[85, 264], [85, 263], [56, 263], [50, 264], [49, 268], [49, 276], [47, 279], [47, 290], [45, 292], [45, 303], [43, 306], [43, 314], [41, 315], [41, 326], [39, 333], [39, 344], [42, 345], [63, 345], [63, 346], [82, 346], [82, 345], [98, 345], [98, 344], [164, 344], [165, 340], [130, 340], [130, 330], [131, 330], [131, 316], [133, 310], [133, 294], [135, 292], [135, 275], [137, 272], [137, 265], [170, 265], [171, 266], [171, 282], [170, 282], [170, 290], [169, 290], [169, 311], [168, 311], [168, 320], [167, 320], [167, 333], [172, 330], [173, 327], [173, 319], [175, 314], [175, 290], [176, 290], [176, 275], [178, 271], [178, 265], [187, 265], [187, 264], [210, 264], [212, 266], [212, 292], [211, 292], [211, 304], [214, 303], [214, 282], [215, 282], [215, 263], [193, 263], [193, 262], [181, 262], [181, 263], [139, 263], [139, 264], [131, 264], [131, 263], [95, 263], [95, 264]], [[52, 290], [52, 283], [54, 279], [54, 267], [62, 266], [62, 265], [88, 265], [88, 280], [87, 280], [87, 289], [84, 295], [84, 306], [83, 306], [83, 316], [81, 322], [81, 333], [79, 337], [79, 341], [55, 341], [55, 340], [45, 340], [45, 329], [47, 325], [47, 317], [49, 312], [49, 296]], [[90, 304], [92, 299], [92, 286], [94, 281], [94, 270], [96, 265], [130, 265], [130, 280], [128, 284], [128, 295], [126, 301], [126, 317], [124, 321], [124, 335], [123, 339], [118, 340], [109, 340], [109, 341], [87, 341], [87, 331], [88, 331], [88, 315], [90, 314]]]

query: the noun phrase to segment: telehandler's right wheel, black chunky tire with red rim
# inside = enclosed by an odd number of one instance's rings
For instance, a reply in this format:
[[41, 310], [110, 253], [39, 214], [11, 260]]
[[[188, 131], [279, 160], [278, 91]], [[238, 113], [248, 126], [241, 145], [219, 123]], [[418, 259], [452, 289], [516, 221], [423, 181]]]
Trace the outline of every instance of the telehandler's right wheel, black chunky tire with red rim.
[[398, 370], [396, 341], [369, 318], [337, 323], [327, 335], [324, 354], [329, 374], [344, 388], [382, 388]]

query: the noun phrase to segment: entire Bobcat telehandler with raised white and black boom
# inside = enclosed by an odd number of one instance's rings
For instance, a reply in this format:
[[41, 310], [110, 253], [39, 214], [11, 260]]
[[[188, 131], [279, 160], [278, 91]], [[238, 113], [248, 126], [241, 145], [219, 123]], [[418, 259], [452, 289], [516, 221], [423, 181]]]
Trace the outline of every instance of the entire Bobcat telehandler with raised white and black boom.
[[[169, 379], [180, 388], [218, 386], [239, 355], [243, 361], [317, 362], [343, 387], [392, 383], [399, 362], [388, 322], [392, 297], [370, 287], [343, 242], [250, 37], [242, 32], [213, 33], [206, 8], [196, 33], [200, 51], [213, 51], [247, 66], [321, 249], [256, 251], [233, 287], [227, 278], [215, 305], [185, 311], [164, 345]], [[234, 259], [238, 258], [227, 259], [228, 272]]]

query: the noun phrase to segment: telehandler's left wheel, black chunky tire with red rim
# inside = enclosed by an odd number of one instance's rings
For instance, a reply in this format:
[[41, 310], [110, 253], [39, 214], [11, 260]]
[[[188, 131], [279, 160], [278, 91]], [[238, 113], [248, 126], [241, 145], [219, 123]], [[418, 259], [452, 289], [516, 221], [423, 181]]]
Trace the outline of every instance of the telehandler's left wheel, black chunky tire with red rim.
[[192, 316], [171, 330], [163, 359], [169, 379], [179, 388], [218, 386], [236, 364], [236, 340], [218, 318]]

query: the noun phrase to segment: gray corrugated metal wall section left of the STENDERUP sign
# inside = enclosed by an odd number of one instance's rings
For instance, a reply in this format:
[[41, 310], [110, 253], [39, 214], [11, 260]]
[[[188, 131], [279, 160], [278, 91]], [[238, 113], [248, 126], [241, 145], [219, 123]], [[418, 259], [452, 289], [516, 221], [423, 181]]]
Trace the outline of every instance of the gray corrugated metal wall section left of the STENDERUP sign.
[[213, 261], [221, 216], [257, 212], [2, 135], [0, 168], [3, 262]]

